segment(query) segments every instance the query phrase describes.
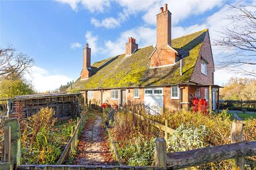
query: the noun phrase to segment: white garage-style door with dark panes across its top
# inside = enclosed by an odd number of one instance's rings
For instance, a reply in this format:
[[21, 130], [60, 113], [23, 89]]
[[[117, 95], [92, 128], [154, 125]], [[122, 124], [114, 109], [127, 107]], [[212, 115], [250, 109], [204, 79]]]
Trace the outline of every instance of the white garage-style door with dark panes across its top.
[[163, 112], [163, 88], [145, 88], [144, 105], [146, 112], [150, 114], [159, 114]]

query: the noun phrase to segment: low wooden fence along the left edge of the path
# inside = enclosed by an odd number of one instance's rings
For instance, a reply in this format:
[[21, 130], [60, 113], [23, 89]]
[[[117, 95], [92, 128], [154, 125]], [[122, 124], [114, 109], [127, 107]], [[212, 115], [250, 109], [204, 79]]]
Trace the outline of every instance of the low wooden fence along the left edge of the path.
[[76, 126], [72, 126], [71, 138], [69, 139], [68, 144], [66, 145], [65, 149], [61, 153], [60, 158], [56, 163], [57, 165], [62, 164], [65, 158], [67, 157], [67, 155], [72, 154], [73, 150], [76, 148], [78, 135], [81, 133], [84, 127], [85, 119], [88, 116], [88, 113], [89, 111], [88, 109], [86, 109], [85, 112], [81, 113], [81, 118], [77, 117], [77, 124]]

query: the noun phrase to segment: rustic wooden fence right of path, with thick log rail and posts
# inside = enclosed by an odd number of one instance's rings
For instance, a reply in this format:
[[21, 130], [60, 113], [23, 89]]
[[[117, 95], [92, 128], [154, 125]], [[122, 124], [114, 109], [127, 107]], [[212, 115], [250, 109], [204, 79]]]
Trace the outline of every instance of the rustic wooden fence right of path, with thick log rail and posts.
[[[120, 107], [121, 109], [124, 109]], [[246, 156], [256, 156], [256, 141], [243, 142], [243, 123], [233, 122], [231, 126], [230, 145], [213, 146], [183, 152], [166, 153], [167, 133], [172, 134], [175, 130], [165, 125], [150, 120], [147, 117], [128, 111], [141, 120], [148, 121], [151, 125], [165, 132], [165, 139], [156, 139], [156, 166], [162, 166], [164, 169], [181, 169], [197, 166], [206, 163], [218, 162], [221, 160], [232, 159], [231, 164], [234, 169], [244, 169], [244, 159]], [[234, 159], [233, 159], [234, 158]]]

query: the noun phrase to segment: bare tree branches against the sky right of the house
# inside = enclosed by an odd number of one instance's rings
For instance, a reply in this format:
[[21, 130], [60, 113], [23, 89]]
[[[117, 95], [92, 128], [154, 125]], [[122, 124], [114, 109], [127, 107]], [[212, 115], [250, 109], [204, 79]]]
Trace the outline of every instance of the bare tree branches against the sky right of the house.
[[235, 12], [226, 16], [232, 22], [220, 32], [215, 45], [230, 49], [218, 63], [220, 69], [256, 77], [256, 6], [230, 5]]

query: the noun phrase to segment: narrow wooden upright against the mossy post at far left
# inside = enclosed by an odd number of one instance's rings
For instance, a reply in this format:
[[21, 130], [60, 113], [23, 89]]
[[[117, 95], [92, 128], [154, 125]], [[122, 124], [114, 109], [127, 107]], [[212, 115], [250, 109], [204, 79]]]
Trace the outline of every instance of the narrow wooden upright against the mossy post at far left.
[[4, 127], [4, 162], [11, 162], [11, 126]]

